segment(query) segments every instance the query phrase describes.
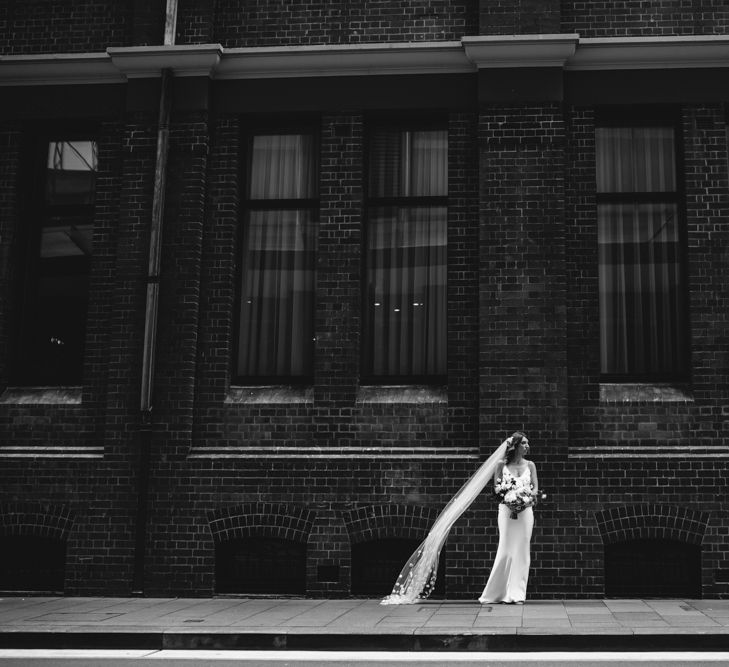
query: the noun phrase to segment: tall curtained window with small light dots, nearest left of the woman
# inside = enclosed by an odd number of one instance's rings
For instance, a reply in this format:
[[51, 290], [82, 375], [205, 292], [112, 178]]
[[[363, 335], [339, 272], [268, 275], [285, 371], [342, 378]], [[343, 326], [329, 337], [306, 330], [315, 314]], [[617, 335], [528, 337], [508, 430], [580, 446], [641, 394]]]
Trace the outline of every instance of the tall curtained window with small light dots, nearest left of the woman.
[[363, 374], [446, 375], [448, 133], [377, 126], [368, 139]]

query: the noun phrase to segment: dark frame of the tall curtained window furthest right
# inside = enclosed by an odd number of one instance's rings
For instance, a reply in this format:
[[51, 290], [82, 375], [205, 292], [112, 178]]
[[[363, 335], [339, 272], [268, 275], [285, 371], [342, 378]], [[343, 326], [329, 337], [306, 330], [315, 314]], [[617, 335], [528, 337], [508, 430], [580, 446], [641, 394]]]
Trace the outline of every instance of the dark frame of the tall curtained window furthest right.
[[[595, 222], [598, 233], [597, 210], [601, 204], [674, 204], [676, 206], [676, 224], [678, 225], [678, 258], [681, 267], [682, 284], [679, 288], [681, 303], [679, 308], [684, 323], [684, 340], [682, 349], [676, 350], [677, 358], [683, 365], [682, 370], [661, 373], [603, 373], [600, 368], [600, 381], [605, 383], [688, 383], [691, 381], [691, 320], [689, 303], [689, 265], [688, 265], [688, 229], [686, 220], [686, 177], [684, 161], [684, 144], [681, 110], [666, 107], [602, 107], [595, 113], [595, 139], [598, 128], [670, 128], [674, 140], [674, 161], [676, 169], [676, 188], [666, 192], [608, 192], [597, 191], [597, 141], [595, 141]], [[597, 247], [597, 246], [596, 246]], [[598, 276], [600, 263], [598, 259]], [[600, 295], [598, 293], [598, 301]], [[598, 326], [602, 326], [598, 317]], [[599, 348], [598, 343], [598, 348]], [[600, 356], [602, 350], [600, 349]], [[600, 364], [599, 364], [600, 365]]]

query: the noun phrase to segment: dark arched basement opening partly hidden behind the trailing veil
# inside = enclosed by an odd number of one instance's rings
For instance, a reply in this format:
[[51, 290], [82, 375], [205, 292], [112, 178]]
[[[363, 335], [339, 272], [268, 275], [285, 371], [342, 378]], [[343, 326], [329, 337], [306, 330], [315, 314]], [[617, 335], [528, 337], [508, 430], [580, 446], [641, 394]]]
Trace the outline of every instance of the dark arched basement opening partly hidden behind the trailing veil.
[[[419, 540], [387, 537], [352, 545], [352, 594], [381, 597], [393, 584]], [[431, 597], [445, 595], [445, 556], [440, 555], [438, 578]]]

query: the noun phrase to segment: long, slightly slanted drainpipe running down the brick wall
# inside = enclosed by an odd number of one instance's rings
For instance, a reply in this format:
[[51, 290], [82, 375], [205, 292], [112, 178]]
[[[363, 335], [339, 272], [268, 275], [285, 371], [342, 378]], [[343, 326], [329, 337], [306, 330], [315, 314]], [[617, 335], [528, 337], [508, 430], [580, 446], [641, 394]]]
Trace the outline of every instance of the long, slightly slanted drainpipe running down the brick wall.
[[[167, 0], [164, 45], [175, 43], [177, 1]], [[169, 124], [172, 70], [163, 69], [160, 84], [159, 120], [157, 123], [157, 159], [154, 170], [152, 219], [149, 232], [149, 262], [147, 265], [147, 303], [144, 312], [144, 351], [140, 391], [139, 457], [137, 473], [137, 520], [134, 547], [132, 594], [144, 595], [144, 570], [147, 536], [147, 506], [149, 503], [149, 464], [152, 444], [152, 390], [154, 388], [154, 357], [157, 347], [157, 315], [159, 311], [159, 281], [162, 257], [162, 221], [164, 219], [167, 156], [169, 153]]]

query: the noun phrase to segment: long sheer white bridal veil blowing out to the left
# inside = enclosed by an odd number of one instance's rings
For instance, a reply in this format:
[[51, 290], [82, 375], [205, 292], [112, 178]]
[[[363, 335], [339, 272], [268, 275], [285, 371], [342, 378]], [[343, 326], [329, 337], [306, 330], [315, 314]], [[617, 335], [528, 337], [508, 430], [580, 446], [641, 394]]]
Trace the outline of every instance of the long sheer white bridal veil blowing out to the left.
[[481, 464], [481, 467], [459, 489], [443, 511], [438, 515], [428, 536], [410, 556], [395, 581], [392, 593], [380, 604], [414, 604], [419, 598], [426, 598], [433, 591], [438, 573], [438, 558], [453, 524], [476, 499], [489, 480], [494, 476], [496, 466], [506, 454], [508, 440]]

